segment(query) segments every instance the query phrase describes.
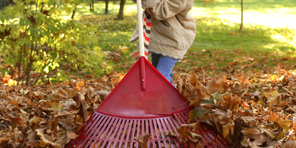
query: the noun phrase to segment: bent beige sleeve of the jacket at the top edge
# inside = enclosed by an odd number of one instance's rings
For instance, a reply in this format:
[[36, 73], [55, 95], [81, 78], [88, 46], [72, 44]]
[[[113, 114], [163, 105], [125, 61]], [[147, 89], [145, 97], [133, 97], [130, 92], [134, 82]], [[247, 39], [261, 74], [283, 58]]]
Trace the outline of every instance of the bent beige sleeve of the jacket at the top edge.
[[165, 20], [180, 13], [190, 0], [143, 0], [142, 7], [157, 20]]

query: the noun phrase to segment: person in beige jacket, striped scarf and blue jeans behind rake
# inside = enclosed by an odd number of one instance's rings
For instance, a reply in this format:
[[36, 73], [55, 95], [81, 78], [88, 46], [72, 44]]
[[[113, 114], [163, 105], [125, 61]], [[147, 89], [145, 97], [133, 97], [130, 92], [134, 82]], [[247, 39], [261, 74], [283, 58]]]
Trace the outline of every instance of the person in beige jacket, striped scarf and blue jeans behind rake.
[[[136, 3], [136, 0], [133, 0]], [[151, 64], [172, 85], [173, 68], [183, 59], [195, 35], [195, 20], [190, 10], [194, 0], [142, 0], [144, 45]], [[139, 39], [138, 24], [130, 42]], [[174, 85], [175, 86], [175, 85]], [[176, 86], [175, 86], [176, 87]]]

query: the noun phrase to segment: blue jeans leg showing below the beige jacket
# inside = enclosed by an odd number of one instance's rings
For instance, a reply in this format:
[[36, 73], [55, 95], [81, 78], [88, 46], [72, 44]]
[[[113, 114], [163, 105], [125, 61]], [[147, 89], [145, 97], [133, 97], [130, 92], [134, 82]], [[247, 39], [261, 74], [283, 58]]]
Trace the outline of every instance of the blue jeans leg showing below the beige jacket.
[[[178, 62], [178, 59], [173, 59], [170, 57], [165, 57], [161, 54], [152, 53], [151, 54], [151, 64], [156, 68], [156, 70], [162, 74], [173, 86], [173, 68]], [[175, 86], [176, 87], [176, 86]]]

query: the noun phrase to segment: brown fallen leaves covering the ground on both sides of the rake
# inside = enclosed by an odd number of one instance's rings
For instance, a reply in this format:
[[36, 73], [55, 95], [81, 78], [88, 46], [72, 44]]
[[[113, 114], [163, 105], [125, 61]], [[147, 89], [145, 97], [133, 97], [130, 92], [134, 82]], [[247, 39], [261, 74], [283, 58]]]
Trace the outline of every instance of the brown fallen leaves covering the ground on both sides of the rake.
[[[195, 107], [190, 119], [216, 127], [233, 148], [296, 147], [294, 71], [277, 66], [210, 77], [198, 68], [183, 71], [174, 83]], [[9, 86], [6, 74], [0, 81], [1, 148], [63, 148], [123, 76]]]

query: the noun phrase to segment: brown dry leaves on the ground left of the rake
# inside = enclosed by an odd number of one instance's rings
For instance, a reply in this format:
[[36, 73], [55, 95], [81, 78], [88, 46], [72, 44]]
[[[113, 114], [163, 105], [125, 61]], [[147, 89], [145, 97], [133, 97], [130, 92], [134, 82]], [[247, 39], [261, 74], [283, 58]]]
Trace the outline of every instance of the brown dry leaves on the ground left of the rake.
[[124, 74], [0, 89], [0, 148], [63, 148]]

